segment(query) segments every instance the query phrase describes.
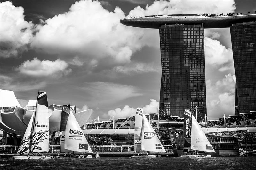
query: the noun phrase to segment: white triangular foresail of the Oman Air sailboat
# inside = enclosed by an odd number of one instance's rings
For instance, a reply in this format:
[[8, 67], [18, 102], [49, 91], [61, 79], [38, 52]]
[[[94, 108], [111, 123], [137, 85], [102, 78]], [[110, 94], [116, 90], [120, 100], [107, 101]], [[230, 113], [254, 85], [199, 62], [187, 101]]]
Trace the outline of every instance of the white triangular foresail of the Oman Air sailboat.
[[214, 149], [212, 148], [211, 143], [205, 136], [201, 126], [196, 121], [195, 117], [192, 116], [192, 123], [191, 123], [191, 149], [196, 151], [204, 151], [204, 152], [213, 152]]

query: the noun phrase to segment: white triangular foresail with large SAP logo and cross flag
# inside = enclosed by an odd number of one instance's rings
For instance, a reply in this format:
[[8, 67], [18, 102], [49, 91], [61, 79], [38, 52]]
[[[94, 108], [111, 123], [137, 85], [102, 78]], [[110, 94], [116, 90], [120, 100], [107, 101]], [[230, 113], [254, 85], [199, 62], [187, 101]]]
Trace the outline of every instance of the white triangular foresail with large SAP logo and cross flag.
[[166, 152], [145, 115], [143, 115], [143, 134], [141, 139], [141, 150], [150, 153]]

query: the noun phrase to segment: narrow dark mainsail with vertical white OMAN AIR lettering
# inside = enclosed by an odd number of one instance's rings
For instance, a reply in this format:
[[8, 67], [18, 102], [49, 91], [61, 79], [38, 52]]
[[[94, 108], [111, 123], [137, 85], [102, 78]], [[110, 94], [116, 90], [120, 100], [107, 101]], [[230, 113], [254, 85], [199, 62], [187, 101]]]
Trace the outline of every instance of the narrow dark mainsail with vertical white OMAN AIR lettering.
[[183, 152], [189, 152], [191, 150], [191, 112], [189, 110], [185, 110], [184, 113], [183, 137]]

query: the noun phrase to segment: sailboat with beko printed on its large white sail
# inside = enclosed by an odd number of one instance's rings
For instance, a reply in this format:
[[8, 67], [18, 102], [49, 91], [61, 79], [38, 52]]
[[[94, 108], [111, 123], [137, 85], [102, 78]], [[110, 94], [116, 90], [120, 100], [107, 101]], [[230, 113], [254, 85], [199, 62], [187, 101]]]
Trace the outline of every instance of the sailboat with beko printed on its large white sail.
[[78, 156], [75, 153], [92, 153], [74, 113], [75, 110], [70, 105], [63, 105], [60, 119], [60, 152], [68, 153], [68, 156], [58, 158], [83, 158], [83, 155]]

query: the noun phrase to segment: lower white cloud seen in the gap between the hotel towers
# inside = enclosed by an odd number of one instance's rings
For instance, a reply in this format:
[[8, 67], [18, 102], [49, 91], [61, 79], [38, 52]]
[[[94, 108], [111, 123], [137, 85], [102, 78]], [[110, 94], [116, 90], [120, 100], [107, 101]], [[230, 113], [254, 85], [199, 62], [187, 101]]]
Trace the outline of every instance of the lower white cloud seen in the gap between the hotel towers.
[[212, 85], [206, 81], [207, 115], [210, 119], [222, 117], [223, 114], [234, 115], [235, 109], [235, 75], [225, 75], [225, 78]]

